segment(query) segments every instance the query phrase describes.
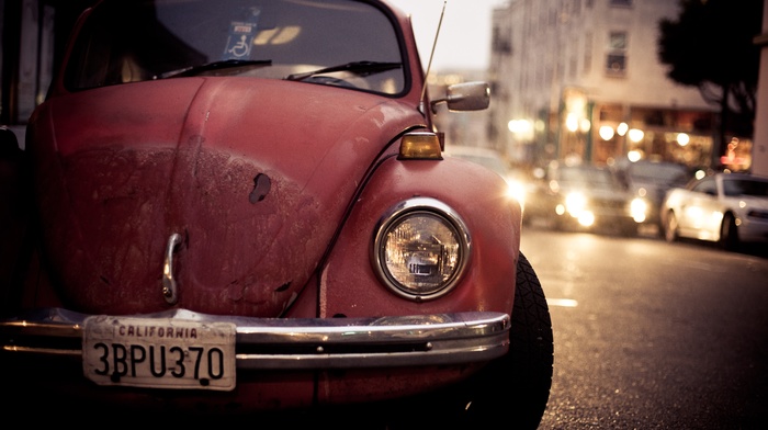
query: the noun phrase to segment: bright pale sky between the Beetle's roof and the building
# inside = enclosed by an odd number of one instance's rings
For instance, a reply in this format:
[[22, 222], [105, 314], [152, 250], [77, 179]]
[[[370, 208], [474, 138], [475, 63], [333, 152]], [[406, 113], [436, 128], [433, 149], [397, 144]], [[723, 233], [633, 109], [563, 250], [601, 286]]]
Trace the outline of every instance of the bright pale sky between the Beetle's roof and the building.
[[413, 15], [416, 42], [425, 68], [445, 13], [432, 58], [432, 71], [447, 69], [485, 70], [490, 55], [492, 11], [508, 0], [389, 0]]

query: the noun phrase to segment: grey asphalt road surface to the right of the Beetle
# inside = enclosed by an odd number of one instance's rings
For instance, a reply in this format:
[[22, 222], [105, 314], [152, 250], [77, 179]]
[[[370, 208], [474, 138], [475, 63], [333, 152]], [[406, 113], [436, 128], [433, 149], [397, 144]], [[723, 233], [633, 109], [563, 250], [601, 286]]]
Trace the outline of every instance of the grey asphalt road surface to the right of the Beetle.
[[768, 247], [531, 227], [552, 314], [540, 429], [768, 429]]

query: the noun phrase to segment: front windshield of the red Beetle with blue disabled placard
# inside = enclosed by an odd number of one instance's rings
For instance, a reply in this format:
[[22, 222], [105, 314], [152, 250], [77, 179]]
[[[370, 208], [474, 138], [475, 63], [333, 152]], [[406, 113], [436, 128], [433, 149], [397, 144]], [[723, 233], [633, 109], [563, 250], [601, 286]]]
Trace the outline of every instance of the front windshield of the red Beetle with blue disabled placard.
[[395, 26], [351, 0], [105, 2], [72, 52], [72, 91], [183, 76], [291, 79], [385, 94], [405, 90]]

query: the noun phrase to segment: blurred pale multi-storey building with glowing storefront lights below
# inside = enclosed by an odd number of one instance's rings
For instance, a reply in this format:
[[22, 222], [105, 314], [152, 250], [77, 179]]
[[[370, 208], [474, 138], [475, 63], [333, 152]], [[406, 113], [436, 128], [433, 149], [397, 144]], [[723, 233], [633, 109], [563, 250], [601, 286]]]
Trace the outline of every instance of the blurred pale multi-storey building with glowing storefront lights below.
[[517, 163], [713, 165], [716, 106], [666, 77], [674, 0], [510, 0], [493, 14], [489, 140]]

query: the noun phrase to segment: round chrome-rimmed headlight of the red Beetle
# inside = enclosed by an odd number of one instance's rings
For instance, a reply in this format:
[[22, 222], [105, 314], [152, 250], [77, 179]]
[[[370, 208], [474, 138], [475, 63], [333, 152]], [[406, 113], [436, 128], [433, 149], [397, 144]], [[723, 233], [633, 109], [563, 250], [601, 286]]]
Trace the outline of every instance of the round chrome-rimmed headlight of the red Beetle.
[[395, 294], [426, 301], [456, 284], [470, 257], [470, 234], [448, 205], [411, 199], [380, 220], [371, 252], [379, 278]]

